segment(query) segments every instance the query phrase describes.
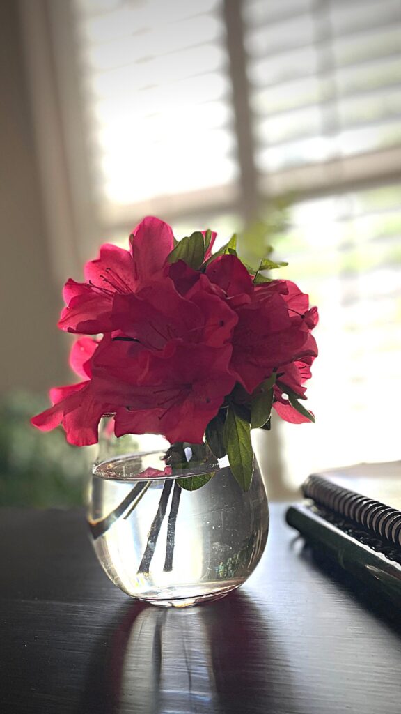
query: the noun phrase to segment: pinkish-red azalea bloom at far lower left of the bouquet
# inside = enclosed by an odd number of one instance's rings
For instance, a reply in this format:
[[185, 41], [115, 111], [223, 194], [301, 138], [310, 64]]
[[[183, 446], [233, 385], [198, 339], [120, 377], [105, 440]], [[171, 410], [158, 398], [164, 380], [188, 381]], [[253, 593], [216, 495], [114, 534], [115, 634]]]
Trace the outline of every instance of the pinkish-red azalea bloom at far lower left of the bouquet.
[[98, 423], [110, 411], [101, 403], [91, 381], [91, 359], [98, 343], [90, 337], [78, 339], [73, 345], [70, 364], [84, 381], [64, 387], [54, 387], [50, 398], [54, 406], [34, 416], [31, 423], [41, 431], [64, 426], [67, 441], [75, 446], [88, 446], [98, 441]]

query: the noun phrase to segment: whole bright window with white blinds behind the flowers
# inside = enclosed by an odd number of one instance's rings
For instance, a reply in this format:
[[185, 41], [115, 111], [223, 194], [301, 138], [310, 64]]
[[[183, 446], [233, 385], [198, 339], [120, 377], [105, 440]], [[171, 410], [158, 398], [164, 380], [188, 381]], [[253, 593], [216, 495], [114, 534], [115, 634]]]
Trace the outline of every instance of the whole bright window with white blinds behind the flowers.
[[[102, 238], [125, 239], [146, 213], [225, 238], [294, 191], [277, 249], [281, 276], [320, 305], [318, 421], [276, 425], [281, 475], [293, 488], [315, 468], [396, 458], [401, 1], [61, 6], [49, 3], [59, 78], [78, 70], [68, 96], [59, 81], [61, 107], [75, 101], [81, 117]], [[73, 146], [71, 126], [64, 111]]]

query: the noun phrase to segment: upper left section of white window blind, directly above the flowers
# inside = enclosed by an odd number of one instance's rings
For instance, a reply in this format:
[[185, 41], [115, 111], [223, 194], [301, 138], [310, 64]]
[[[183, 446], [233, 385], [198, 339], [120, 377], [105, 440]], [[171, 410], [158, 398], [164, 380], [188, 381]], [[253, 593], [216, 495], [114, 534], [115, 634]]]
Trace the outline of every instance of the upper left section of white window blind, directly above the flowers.
[[76, 0], [76, 22], [103, 220], [232, 196], [221, 1]]

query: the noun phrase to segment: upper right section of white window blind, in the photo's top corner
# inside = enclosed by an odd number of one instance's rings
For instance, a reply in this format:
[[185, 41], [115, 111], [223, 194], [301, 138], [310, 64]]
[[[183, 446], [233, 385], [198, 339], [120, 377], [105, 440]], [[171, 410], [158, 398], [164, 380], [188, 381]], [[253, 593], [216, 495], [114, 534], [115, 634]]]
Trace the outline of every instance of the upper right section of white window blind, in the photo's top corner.
[[[400, 0], [245, 0], [243, 18], [262, 186], [363, 178], [350, 160], [360, 155], [370, 159], [365, 177], [398, 168]], [[314, 165], [320, 171], [311, 173]]]

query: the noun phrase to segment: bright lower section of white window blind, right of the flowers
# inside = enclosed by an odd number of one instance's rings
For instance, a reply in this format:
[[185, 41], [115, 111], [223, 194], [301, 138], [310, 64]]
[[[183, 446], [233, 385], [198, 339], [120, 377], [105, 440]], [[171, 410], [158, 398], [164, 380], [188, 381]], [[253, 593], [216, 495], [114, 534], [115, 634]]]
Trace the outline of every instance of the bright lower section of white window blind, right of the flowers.
[[401, 184], [299, 203], [280, 251], [320, 308], [309, 425], [280, 423], [283, 471], [400, 458]]

